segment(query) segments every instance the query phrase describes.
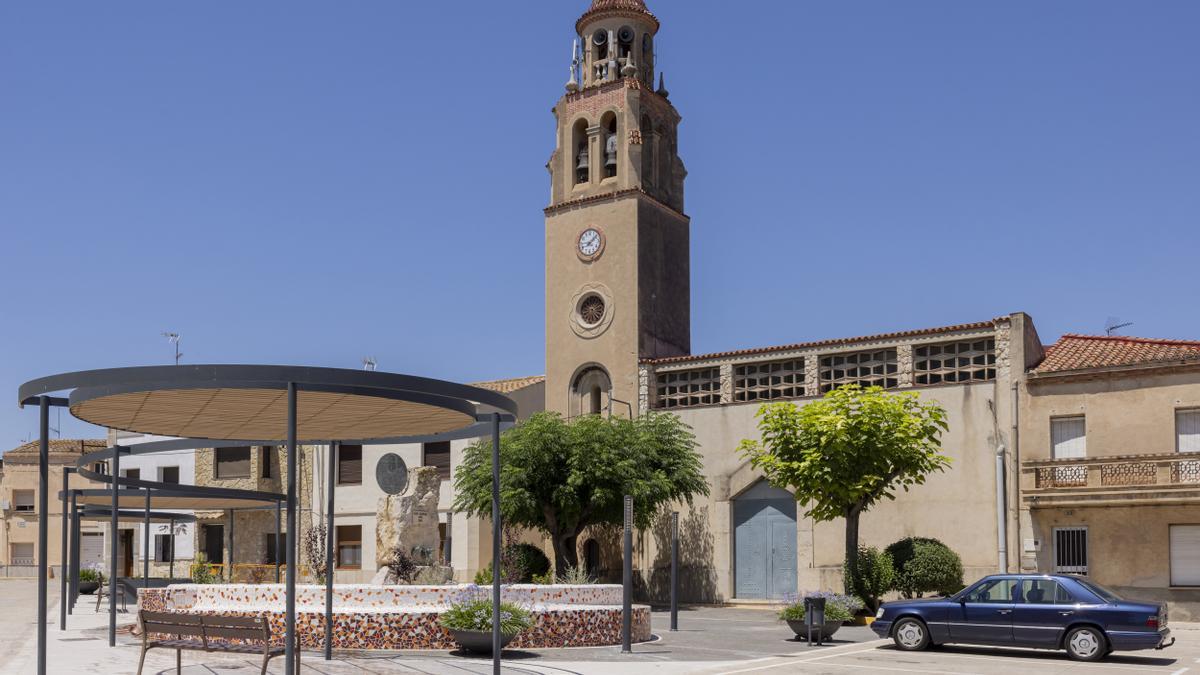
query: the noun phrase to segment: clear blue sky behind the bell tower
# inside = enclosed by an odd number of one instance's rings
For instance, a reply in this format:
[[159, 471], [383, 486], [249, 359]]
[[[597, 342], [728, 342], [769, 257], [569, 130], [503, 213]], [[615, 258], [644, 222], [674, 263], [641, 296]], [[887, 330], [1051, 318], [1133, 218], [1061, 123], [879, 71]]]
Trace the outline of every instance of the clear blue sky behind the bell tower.
[[[586, 6], [0, 6], [0, 448], [36, 436], [20, 382], [167, 363], [163, 330], [188, 363], [542, 372]], [[694, 351], [1015, 310], [1200, 338], [1200, 2], [650, 7]]]

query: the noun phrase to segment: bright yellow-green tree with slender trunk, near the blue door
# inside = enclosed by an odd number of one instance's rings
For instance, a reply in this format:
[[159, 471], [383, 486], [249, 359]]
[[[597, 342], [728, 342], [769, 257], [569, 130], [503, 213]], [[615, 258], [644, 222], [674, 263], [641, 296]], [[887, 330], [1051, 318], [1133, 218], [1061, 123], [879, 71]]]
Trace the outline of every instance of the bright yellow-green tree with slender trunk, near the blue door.
[[[946, 411], [917, 394], [846, 386], [805, 406], [758, 408], [761, 441], [740, 452], [772, 485], [790, 488], [817, 522], [846, 519], [846, 569], [858, 569], [858, 521], [881, 500], [894, 500], [950, 460], [941, 454]], [[847, 590], [866, 599], [863, 581]]]

